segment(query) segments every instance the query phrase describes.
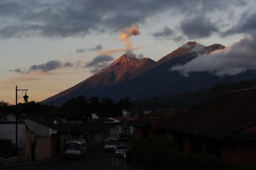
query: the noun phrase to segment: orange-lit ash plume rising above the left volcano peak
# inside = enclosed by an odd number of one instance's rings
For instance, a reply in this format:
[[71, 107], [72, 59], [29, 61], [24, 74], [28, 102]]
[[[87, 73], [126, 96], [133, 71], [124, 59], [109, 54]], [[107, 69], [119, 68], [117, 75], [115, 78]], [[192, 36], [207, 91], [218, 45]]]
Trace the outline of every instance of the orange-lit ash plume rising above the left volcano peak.
[[120, 33], [121, 38], [119, 40], [125, 43], [126, 49], [132, 49], [130, 37], [138, 34], [140, 34], [138, 26], [132, 25]]

